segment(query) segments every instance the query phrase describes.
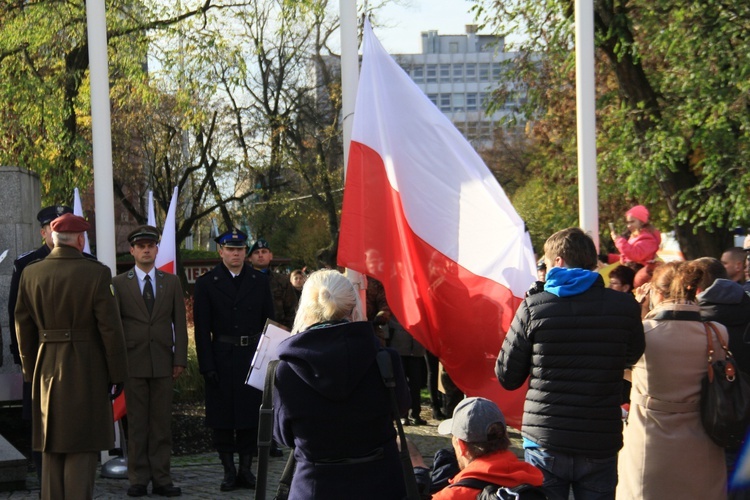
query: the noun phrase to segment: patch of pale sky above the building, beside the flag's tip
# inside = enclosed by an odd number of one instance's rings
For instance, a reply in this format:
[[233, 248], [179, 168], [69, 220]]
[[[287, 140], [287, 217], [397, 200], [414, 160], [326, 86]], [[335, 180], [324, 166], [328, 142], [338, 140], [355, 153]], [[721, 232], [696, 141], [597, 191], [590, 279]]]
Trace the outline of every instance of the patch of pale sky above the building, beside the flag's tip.
[[[361, 1], [361, 0], [359, 0]], [[466, 33], [475, 24], [468, 0], [404, 0], [388, 2], [378, 14], [375, 36], [391, 54], [422, 51], [421, 33], [437, 30], [441, 35]]]

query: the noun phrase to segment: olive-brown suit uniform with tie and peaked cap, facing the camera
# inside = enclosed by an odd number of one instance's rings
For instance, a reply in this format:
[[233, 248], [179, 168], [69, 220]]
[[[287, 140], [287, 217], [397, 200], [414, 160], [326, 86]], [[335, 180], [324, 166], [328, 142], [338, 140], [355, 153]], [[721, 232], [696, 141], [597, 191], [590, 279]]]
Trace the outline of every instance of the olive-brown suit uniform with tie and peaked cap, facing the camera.
[[[140, 226], [128, 235], [131, 246], [159, 242], [159, 230]], [[149, 277], [152, 310], [144, 296]], [[154, 493], [179, 496], [172, 484], [173, 368], [187, 366], [185, 299], [174, 274], [134, 266], [112, 280], [128, 350], [128, 496], [145, 496], [148, 483]]]

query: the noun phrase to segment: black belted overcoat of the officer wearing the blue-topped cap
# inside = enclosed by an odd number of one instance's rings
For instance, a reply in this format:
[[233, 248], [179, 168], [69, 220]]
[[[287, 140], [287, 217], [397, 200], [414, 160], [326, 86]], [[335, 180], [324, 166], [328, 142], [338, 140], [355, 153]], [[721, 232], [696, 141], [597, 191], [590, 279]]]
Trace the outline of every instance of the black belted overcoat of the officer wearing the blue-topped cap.
[[219, 376], [218, 384], [206, 381], [208, 427], [257, 427], [262, 392], [246, 385], [245, 378], [267, 318], [274, 319], [268, 277], [250, 265], [232, 278], [219, 264], [196, 280], [193, 321], [198, 363], [202, 374], [214, 371]]

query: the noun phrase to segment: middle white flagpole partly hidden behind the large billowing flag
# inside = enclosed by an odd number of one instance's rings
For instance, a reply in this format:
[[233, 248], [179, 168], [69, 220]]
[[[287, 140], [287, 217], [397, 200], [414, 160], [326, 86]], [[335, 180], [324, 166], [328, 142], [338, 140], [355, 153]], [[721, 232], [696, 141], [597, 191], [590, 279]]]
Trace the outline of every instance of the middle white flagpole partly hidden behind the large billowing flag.
[[[344, 117], [344, 178], [346, 178], [349, 143], [352, 140], [352, 124], [354, 122], [354, 104], [357, 99], [357, 85], [359, 84], [357, 0], [340, 0], [339, 15], [341, 17], [341, 113]], [[346, 276], [359, 291], [364, 309], [367, 279], [351, 269], [346, 270]], [[362, 312], [366, 313], [364, 310]]]

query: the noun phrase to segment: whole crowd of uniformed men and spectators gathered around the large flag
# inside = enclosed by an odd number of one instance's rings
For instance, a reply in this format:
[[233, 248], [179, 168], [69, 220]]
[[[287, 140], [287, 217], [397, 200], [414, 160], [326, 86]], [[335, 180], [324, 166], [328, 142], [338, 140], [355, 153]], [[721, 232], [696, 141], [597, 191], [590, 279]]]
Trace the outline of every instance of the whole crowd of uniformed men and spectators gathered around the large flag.
[[[170, 427], [188, 329], [180, 280], [155, 268], [159, 230], [133, 230], [134, 265], [110, 278], [82, 252], [83, 218], [65, 206], [37, 218], [44, 245], [16, 260], [9, 313], [41, 497], [93, 497], [98, 452], [114, 447], [111, 400], [123, 390], [126, 494], [146, 496], [150, 485], [152, 494], [180, 496]], [[246, 376], [270, 320], [290, 331], [277, 352], [270, 450], [283, 456], [279, 445], [289, 448], [296, 464], [289, 498], [407, 498], [410, 476], [421, 498], [441, 500], [487, 492], [743, 498], [728, 491], [740, 448], [708, 437], [699, 402], [708, 323], [719, 335], [715, 356], [728, 342], [738, 368], [750, 372], [750, 248], [663, 263], [646, 207], [630, 209], [625, 222], [627, 234], [612, 227], [619, 253], [609, 261], [620, 265], [605, 276], [584, 231], [550, 236], [539, 280], [515, 311], [495, 375], [506, 390], [527, 390], [523, 460], [510, 450], [502, 409], [464, 396], [392, 313], [381, 283], [368, 280], [363, 316], [359, 293], [340, 272], [274, 272], [268, 241], [228, 229], [216, 238], [219, 264], [196, 281], [193, 307], [205, 423], [224, 472], [218, 489], [257, 485], [262, 392]], [[382, 351], [393, 366], [390, 386], [377, 361]], [[427, 424], [423, 388], [432, 418], [442, 420], [439, 433], [451, 436], [431, 468], [394, 428], [395, 420]], [[411, 470], [399, 457], [404, 447]]]

